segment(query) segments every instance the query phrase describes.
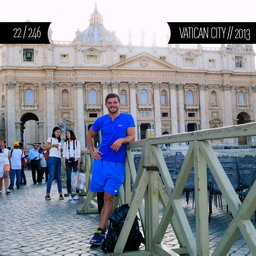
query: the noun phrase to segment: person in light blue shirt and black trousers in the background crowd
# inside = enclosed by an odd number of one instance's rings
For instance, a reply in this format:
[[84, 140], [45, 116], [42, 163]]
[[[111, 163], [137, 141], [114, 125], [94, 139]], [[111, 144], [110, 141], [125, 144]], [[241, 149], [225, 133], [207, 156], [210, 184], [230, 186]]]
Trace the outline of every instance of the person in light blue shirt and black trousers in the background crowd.
[[[28, 159], [30, 160], [30, 163], [31, 163], [32, 179], [34, 184], [36, 184], [37, 182], [39, 184], [42, 183], [42, 175], [41, 175], [41, 168], [40, 168], [40, 153], [38, 149], [39, 149], [38, 144], [34, 143], [33, 148], [31, 148], [28, 153]], [[36, 172], [37, 172], [37, 178], [36, 178]]]

